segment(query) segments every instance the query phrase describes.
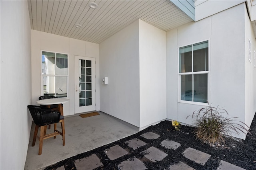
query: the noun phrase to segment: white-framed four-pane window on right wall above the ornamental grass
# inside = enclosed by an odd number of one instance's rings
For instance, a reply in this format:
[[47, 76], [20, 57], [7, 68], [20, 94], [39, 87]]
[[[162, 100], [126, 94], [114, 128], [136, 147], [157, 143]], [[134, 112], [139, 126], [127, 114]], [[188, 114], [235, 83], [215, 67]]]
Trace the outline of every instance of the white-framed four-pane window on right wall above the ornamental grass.
[[209, 98], [208, 41], [179, 48], [180, 101], [207, 103]]

